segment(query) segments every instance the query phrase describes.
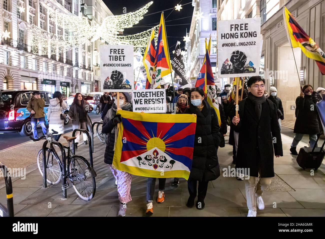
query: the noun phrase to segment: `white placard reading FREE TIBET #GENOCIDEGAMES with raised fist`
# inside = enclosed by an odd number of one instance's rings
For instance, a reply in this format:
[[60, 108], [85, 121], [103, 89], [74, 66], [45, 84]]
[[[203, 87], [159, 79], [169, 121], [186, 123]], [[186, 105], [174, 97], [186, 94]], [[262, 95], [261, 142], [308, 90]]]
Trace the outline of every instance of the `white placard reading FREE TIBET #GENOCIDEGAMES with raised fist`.
[[126, 92], [134, 89], [133, 46], [100, 45], [101, 91]]

